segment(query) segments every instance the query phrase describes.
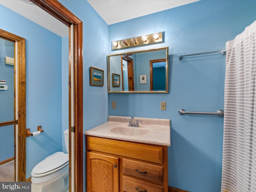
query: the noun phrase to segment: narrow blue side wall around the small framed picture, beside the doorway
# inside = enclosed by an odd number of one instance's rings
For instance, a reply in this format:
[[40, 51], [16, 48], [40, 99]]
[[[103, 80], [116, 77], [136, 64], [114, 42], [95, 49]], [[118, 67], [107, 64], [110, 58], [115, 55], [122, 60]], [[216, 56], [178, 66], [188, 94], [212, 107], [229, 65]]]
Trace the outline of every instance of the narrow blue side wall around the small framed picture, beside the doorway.
[[[108, 121], [108, 25], [86, 0], [59, 0], [83, 22], [84, 132]], [[104, 70], [104, 86], [90, 86], [90, 66]], [[84, 136], [84, 191], [85, 136]]]

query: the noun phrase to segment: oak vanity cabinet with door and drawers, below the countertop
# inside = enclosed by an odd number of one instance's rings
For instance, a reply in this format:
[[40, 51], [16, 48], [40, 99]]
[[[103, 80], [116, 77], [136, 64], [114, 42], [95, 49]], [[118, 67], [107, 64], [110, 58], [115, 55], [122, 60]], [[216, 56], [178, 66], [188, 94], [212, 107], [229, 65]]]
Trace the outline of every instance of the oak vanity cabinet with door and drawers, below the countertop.
[[167, 146], [86, 135], [88, 192], [168, 192]]

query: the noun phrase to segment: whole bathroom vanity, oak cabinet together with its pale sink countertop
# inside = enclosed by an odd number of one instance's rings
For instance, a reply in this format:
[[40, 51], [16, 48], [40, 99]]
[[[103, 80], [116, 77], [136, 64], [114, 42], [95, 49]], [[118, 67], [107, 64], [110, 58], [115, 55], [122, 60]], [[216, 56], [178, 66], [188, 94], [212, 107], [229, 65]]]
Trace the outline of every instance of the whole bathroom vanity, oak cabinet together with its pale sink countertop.
[[142, 120], [134, 128], [128, 118], [109, 116], [85, 132], [87, 191], [168, 192], [170, 120], [134, 118]]

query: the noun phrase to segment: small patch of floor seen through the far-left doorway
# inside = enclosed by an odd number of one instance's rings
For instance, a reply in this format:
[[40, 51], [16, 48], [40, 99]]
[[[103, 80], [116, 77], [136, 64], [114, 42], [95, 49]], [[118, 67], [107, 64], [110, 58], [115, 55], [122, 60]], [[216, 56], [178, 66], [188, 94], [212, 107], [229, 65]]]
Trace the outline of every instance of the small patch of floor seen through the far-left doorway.
[[0, 166], [0, 181], [14, 181], [14, 161]]

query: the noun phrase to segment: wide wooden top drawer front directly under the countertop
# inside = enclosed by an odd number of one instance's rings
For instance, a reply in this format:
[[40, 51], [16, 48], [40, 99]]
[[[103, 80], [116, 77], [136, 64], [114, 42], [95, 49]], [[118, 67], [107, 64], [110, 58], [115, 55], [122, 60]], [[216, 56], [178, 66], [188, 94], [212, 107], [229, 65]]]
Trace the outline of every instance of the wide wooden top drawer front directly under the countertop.
[[125, 142], [106, 138], [87, 136], [88, 150], [94, 150], [118, 156], [163, 163], [163, 147], [140, 143]]

